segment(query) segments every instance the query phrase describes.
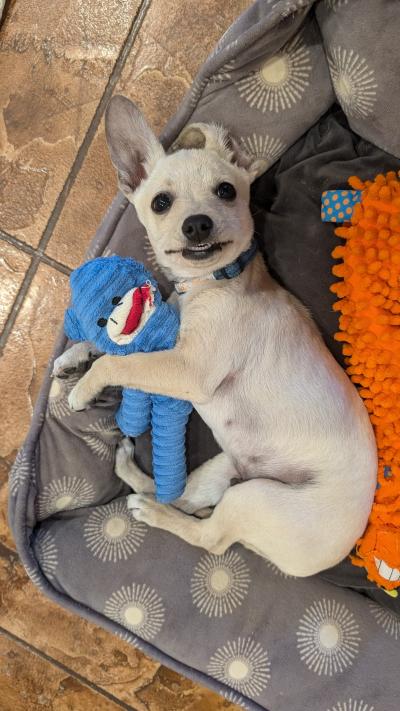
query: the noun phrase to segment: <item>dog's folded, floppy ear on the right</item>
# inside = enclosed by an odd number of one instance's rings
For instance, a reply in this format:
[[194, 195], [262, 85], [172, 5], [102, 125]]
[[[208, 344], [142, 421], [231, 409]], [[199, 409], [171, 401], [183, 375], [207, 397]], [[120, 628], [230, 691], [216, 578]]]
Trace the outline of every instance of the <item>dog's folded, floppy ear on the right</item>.
[[218, 124], [191, 123], [179, 134], [172, 145], [172, 151], [193, 148], [216, 151], [222, 158], [244, 168], [250, 182], [258, 178], [266, 169], [266, 161], [250, 156], [229, 132]]

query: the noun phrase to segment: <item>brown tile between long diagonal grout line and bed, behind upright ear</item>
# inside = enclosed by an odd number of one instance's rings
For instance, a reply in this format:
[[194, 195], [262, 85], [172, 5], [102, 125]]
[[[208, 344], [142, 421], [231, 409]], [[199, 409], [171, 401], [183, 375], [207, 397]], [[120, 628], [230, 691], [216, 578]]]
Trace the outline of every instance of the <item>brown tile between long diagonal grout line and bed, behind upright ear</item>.
[[[250, 4], [248, 0], [153, 0], [116, 93], [136, 101], [159, 133], [215, 43]], [[78, 266], [115, 192], [102, 124], [55, 227], [48, 254]]]

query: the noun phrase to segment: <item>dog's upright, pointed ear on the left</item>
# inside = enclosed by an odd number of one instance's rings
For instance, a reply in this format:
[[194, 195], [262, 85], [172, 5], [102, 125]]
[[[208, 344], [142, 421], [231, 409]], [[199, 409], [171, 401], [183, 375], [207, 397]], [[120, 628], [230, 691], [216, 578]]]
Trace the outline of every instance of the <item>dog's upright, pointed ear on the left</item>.
[[125, 96], [113, 96], [107, 106], [105, 123], [119, 187], [130, 198], [165, 152], [137, 106]]

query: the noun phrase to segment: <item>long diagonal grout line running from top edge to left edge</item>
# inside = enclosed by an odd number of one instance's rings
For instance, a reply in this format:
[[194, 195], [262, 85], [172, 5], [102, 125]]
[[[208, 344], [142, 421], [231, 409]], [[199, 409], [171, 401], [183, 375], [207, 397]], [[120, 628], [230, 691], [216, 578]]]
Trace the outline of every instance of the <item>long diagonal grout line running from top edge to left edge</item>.
[[31, 264], [24, 276], [23, 282], [21, 284], [21, 287], [19, 289], [19, 292], [17, 296], [15, 297], [14, 304], [10, 310], [10, 313], [8, 315], [7, 321], [4, 325], [3, 332], [0, 335], [0, 355], [2, 354], [2, 351], [4, 350], [4, 347], [7, 343], [8, 337], [14, 327], [15, 321], [17, 319], [19, 309], [21, 308], [21, 305], [23, 303], [23, 300], [28, 293], [28, 290], [30, 288], [30, 285], [33, 281], [33, 278], [36, 274], [36, 271], [38, 269], [38, 266], [43, 259], [44, 251], [50, 241], [51, 235], [53, 234], [54, 228], [57, 224], [58, 218], [60, 217], [60, 214], [62, 212], [62, 209], [65, 205], [65, 202], [68, 198], [68, 195], [71, 191], [71, 188], [75, 182], [75, 179], [82, 167], [83, 161], [88, 153], [89, 147], [92, 143], [92, 140], [96, 134], [96, 131], [100, 125], [100, 121], [103, 117], [103, 114], [106, 110], [107, 104], [112, 96], [113, 90], [121, 76], [122, 69], [125, 66], [126, 60], [128, 59], [129, 53], [134, 45], [134, 42], [136, 40], [136, 37], [139, 33], [139, 30], [143, 24], [143, 20], [146, 16], [146, 13], [151, 5], [151, 0], [142, 0], [142, 2], [139, 5], [139, 8], [132, 20], [130, 30], [128, 32], [127, 38], [125, 42], [123, 43], [118, 58], [114, 64], [114, 67], [112, 69], [112, 72], [108, 78], [107, 84], [105, 86], [105, 89], [103, 91], [103, 94], [100, 98], [99, 103], [97, 104], [96, 111], [94, 112], [93, 118], [89, 124], [89, 128], [86, 131], [85, 137], [79, 146], [79, 149], [77, 151], [77, 154], [75, 156], [75, 160], [71, 166], [71, 169], [68, 173], [67, 179], [63, 185], [63, 188], [61, 192], [59, 193], [56, 203], [54, 205], [54, 208], [51, 212], [51, 215], [48, 219], [47, 225], [43, 231], [43, 234], [40, 238], [38, 248], [36, 250], [35, 256], [32, 257]]

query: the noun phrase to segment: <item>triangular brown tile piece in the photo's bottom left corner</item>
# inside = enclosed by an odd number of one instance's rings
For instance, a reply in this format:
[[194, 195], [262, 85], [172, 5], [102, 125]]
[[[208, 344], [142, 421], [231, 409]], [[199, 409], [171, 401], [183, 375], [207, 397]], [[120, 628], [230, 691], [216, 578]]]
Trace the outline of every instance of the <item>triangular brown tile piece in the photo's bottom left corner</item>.
[[0, 695], [2, 711], [118, 711], [121, 708], [2, 634]]

